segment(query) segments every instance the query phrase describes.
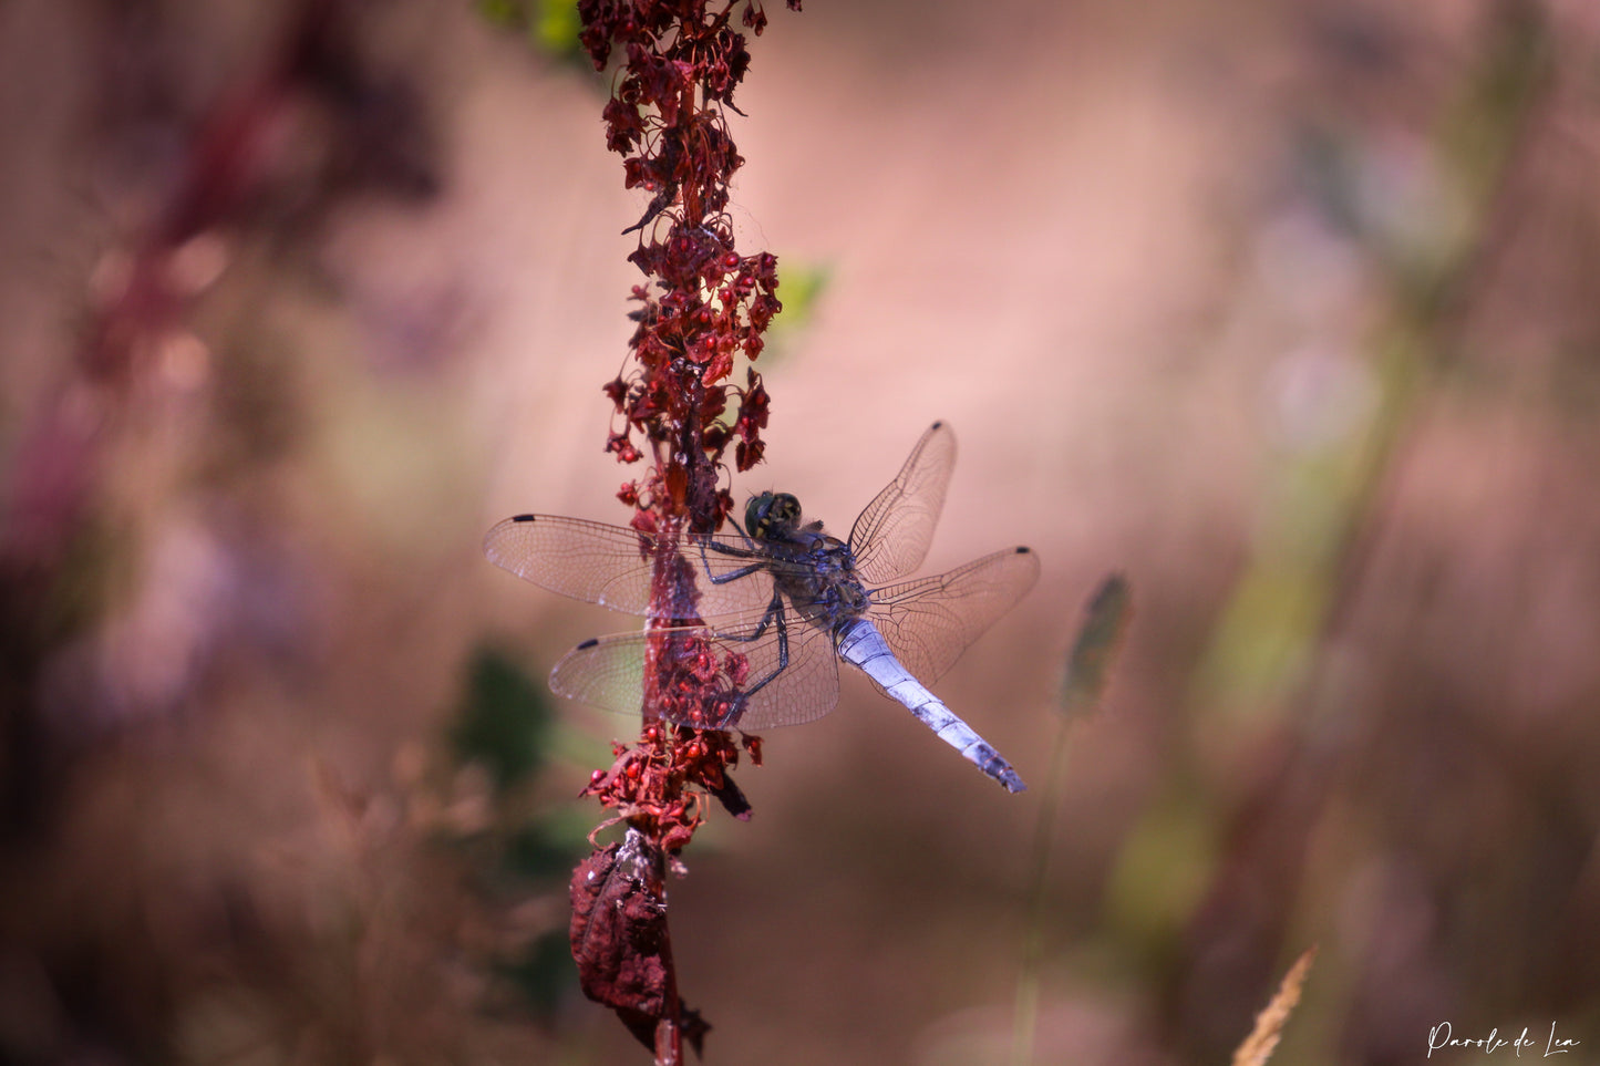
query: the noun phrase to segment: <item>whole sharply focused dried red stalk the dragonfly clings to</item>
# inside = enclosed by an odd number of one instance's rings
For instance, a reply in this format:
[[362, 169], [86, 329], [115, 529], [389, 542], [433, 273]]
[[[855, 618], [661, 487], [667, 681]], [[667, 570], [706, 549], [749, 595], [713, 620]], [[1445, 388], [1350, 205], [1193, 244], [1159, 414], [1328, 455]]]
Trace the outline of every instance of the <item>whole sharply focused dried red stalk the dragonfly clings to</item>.
[[[800, 0], [787, 0], [800, 10]], [[714, 8], [717, 8], [714, 11]], [[629, 256], [650, 279], [635, 285], [638, 323], [630, 368], [605, 386], [621, 416], [606, 440], [621, 463], [648, 448], [646, 474], [618, 498], [634, 507], [634, 527], [658, 543], [718, 528], [733, 511], [720, 485], [725, 453], [747, 471], [762, 459], [768, 395], [754, 367], [733, 384], [734, 359], [762, 354], [766, 327], [782, 309], [778, 259], [734, 250], [726, 214], [728, 182], [744, 163], [728, 136], [726, 109], [750, 66], [746, 35], [766, 26], [758, 0], [579, 0], [579, 40], [597, 70], [622, 56], [606, 102], [606, 147], [624, 157], [629, 189], [653, 194]], [[728, 416], [733, 407], [733, 416]], [[680, 602], [680, 557], [656, 565], [651, 603]], [[675, 610], [683, 610], [682, 607]], [[698, 618], [656, 616], [653, 627]], [[627, 823], [621, 844], [597, 850], [573, 874], [573, 957], [584, 992], [618, 1012], [653, 1048], [658, 1063], [682, 1061], [683, 1039], [698, 1050], [707, 1024], [677, 991], [667, 935], [666, 871], [702, 821], [714, 795], [738, 818], [749, 804], [728, 776], [739, 746], [726, 733], [670, 727], [670, 699], [715, 698], [715, 677], [682, 661], [680, 642], [661, 642], [645, 664], [643, 731], [616, 747], [610, 770], [584, 789]], [[760, 762], [757, 738], [744, 749]]]

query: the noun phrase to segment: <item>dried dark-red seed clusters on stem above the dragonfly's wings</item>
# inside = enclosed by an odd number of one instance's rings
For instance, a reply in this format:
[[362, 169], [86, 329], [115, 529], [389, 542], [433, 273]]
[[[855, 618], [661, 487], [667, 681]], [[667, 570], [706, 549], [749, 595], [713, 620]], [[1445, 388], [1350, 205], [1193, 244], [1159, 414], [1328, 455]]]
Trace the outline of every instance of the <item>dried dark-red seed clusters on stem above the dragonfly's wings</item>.
[[[795, 0], [789, 6], [800, 8]], [[637, 367], [605, 386], [627, 423], [608, 450], [637, 459], [640, 451], [624, 445], [637, 429], [654, 448], [654, 479], [682, 466], [680, 491], [645, 485], [640, 499], [698, 531], [715, 528], [726, 514], [717, 506], [715, 482], [728, 445], [738, 442], [739, 469], [762, 455], [765, 411], [744, 418], [741, 407], [734, 424], [718, 419], [736, 391], [728, 384], [736, 359], [760, 355], [762, 333], [782, 309], [776, 256], [739, 254], [723, 214], [728, 182], [744, 163], [725, 118], [750, 64], [731, 18], [739, 8], [741, 24], [760, 34], [766, 14], [754, 0], [715, 11], [698, 0], [579, 3], [581, 42], [595, 69], [624, 56], [602, 112], [606, 146], [624, 155], [624, 184], [654, 194], [629, 227], [643, 230], [629, 259], [653, 282], [632, 291]], [[750, 392], [765, 402], [758, 375], [749, 376]]]

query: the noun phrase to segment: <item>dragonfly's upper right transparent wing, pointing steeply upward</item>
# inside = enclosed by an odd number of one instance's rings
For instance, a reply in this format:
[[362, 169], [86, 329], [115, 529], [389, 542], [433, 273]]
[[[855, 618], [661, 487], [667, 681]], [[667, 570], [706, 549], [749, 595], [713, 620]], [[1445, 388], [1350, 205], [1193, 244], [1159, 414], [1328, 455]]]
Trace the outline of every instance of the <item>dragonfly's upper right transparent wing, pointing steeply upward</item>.
[[954, 467], [955, 434], [934, 423], [910, 450], [899, 475], [856, 519], [850, 552], [869, 584], [893, 581], [922, 565]]

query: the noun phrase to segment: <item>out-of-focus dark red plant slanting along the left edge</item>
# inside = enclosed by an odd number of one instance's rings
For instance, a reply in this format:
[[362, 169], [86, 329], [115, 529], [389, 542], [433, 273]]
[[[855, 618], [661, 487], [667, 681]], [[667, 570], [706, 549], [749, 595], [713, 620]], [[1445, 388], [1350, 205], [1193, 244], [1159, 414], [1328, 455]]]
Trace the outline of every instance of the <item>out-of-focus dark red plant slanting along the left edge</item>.
[[[141, 51], [126, 40], [136, 27], [168, 16], [138, 5], [104, 10], [118, 56]], [[66, 770], [90, 743], [88, 730], [62, 728], [59, 711], [40, 711], [37, 693], [62, 648], [104, 624], [102, 578], [86, 560], [138, 539], [107, 512], [117, 456], [142, 419], [165, 418], [173, 394], [198, 389], [206, 363], [237, 363], [230, 352], [213, 359], [195, 336], [195, 304], [250, 237], [306, 226], [360, 192], [421, 202], [440, 187], [419, 93], [363, 56], [362, 32], [357, 0], [283, 5], [259, 61], [234, 72], [197, 114], [171, 114], [163, 102], [138, 118], [181, 130], [174, 173], [147, 216], [101, 258], [72, 359], [27, 405], [0, 469], [0, 840], [48, 828]], [[125, 125], [136, 125], [139, 104], [130, 99], [165, 101], [166, 90], [134, 90], [120, 66], [106, 66], [101, 91], [114, 99], [106, 110], [122, 117], [104, 139], [117, 142]], [[318, 125], [347, 155], [330, 147], [318, 182], [294, 198], [294, 165], [304, 160], [291, 165], [286, 146]], [[216, 403], [219, 386], [208, 387]], [[66, 592], [80, 586], [93, 592]]]

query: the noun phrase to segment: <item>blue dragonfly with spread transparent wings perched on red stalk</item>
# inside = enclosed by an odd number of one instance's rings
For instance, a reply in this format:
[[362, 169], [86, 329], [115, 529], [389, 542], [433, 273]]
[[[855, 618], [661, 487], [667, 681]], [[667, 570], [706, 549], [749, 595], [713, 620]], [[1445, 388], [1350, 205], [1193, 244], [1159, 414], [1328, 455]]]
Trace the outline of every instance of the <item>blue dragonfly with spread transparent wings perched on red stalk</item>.
[[832, 711], [843, 659], [1021, 792], [1011, 763], [926, 687], [1038, 578], [1038, 555], [1008, 547], [907, 579], [933, 543], [954, 466], [955, 435], [934, 423], [848, 539], [806, 520], [794, 495], [763, 491], [742, 527], [728, 520], [731, 533], [670, 539], [520, 514], [488, 531], [483, 552], [550, 592], [650, 619], [573, 648], [550, 672], [562, 696], [635, 714], [648, 695], [675, 725], [754, 733]]

